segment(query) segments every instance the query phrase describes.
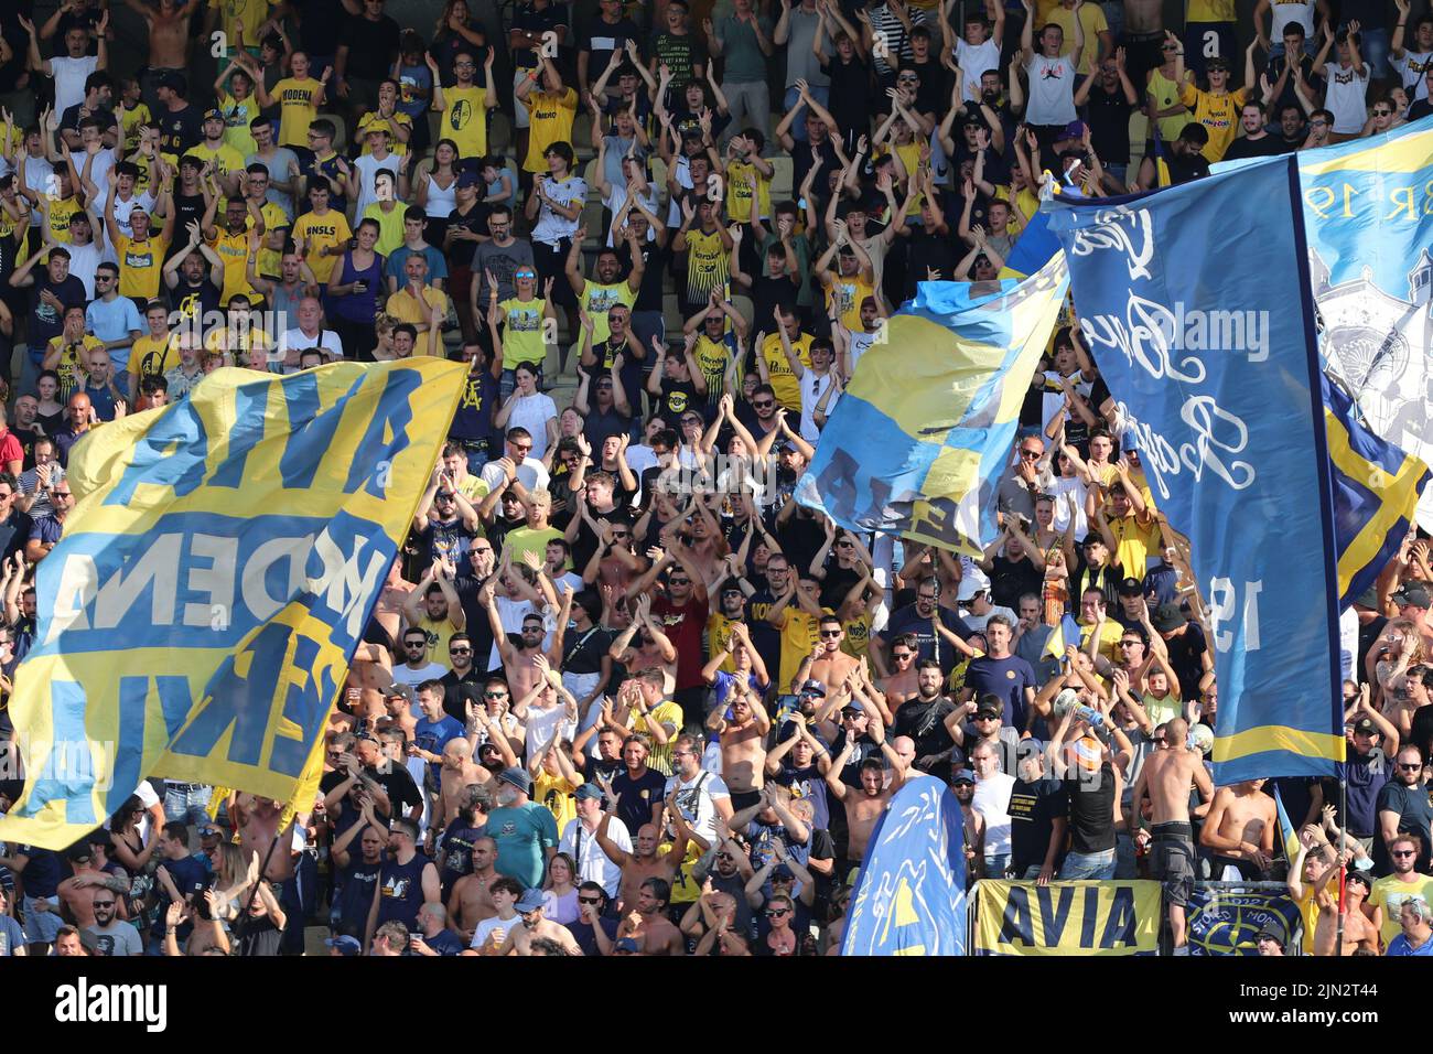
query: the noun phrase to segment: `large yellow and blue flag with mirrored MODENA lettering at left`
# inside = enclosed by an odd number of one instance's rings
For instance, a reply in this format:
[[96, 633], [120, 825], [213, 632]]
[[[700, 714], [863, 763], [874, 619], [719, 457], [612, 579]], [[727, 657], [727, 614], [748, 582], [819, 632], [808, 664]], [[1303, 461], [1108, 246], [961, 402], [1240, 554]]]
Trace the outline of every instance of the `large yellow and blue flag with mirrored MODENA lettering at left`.
[[225, 369], [76, 446], [0, 840], [63, 849], [150, 776], [294, 800], [464, 379], [431, 359]]

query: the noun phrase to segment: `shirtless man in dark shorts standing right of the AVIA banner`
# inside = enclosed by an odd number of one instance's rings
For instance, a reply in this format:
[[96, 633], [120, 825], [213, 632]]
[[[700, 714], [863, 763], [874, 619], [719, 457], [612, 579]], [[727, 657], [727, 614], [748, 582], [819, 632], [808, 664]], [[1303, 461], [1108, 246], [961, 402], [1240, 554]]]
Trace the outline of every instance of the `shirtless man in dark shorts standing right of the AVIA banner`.
[[1164, 883], [1165, 903], [1169, 905], [1169, 932], [1174, 954], [1188, 955], [1185, 935], [1185, 906], [1194, 892], [1194, 827], [1189, 825], [1189, 787], [1198, 787], [1202, 797], [1214, 793], [1209, 773], [1198, 750], [1191, 750], [1187, 737], [1189, 724], [1182, 717], [1165, 723], [1165, 749], [1145, 759], [1135, 780], [1134, 815], [1149, 796], [1152, 807], [1151, 878]]

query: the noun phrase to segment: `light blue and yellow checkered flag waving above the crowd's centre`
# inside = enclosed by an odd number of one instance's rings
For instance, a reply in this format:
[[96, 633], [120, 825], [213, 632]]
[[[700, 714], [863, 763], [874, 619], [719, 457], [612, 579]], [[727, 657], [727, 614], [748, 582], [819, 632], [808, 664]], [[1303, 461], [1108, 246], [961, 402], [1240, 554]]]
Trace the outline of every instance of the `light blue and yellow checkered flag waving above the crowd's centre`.
[[1066, 287], [1063, 255], [1020, 283], [923, 283], [861, 356], [797, 500], [853, 531], [979, 555]]

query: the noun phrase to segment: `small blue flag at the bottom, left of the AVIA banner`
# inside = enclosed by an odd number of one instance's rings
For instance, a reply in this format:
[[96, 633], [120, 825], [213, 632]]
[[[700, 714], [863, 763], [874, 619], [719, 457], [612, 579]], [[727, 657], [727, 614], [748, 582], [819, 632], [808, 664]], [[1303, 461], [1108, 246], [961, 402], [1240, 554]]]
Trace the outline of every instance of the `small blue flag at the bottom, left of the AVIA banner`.
[[866, 846], [841, 955], [964, 955], [966, 850], [960, 802], [913, 776]]

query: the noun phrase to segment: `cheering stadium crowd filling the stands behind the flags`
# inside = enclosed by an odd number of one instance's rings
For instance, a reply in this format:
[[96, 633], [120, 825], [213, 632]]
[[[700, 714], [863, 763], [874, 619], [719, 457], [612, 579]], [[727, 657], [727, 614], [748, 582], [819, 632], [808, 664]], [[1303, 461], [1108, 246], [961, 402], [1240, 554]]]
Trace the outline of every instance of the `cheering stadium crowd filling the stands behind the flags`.
[[9, 845], [0, 955], [305, 926], [334, 955], [833, 954], [914, 773], [959, 796], [970, 880], [1158, 878], [1178, 951], [1195, 880], [1274, 878], [1288, 954], [1433, 954], [1429, 541], [1346, 619], [1347, 806], [1278, 780], [1290, 862], [1271, 786], [1211, 784], [1208, 612], [1075, 314], [983, 556], [791, 498], [884, 320], [993, 280], [1043, 179], [1115, 195], [1430, 112], [1407, 0], [1168, 13], [0, 6], [6, 698], [87, 432], [222, 366], [470, 366], [318, 800], [155, 780], [67, 852]]

